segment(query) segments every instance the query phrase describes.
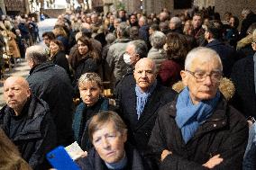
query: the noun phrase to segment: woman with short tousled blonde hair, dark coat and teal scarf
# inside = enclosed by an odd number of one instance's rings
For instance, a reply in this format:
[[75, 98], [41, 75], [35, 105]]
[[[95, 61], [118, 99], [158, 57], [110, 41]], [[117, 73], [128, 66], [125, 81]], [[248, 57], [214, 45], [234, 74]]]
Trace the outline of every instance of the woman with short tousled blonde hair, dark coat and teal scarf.
[[88, 122], [97, 112], [114, 111], [114, 106], [102, 96], [103, 84], [96, 73], [86, 73], [78, 80], [78, 89], [82, 103], [79, 103], [73, 119], [73, 131], [76, 141], [82, 149], [92, 148], [88, 137]]

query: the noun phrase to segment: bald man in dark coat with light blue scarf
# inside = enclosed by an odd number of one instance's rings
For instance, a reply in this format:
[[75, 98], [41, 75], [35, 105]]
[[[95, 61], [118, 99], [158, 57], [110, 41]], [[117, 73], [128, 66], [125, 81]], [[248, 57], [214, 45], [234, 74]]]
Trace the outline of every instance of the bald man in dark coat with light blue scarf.
[[120, 115], [128, 126], [130, 142], [141, 152], [151, 137], [151, 130], [156, 119], [156, 112], [162, 105], [174, 99], [169, 88], [158, 84], [156, 65], [151, 58], [140, 59], [133, 75], [127, 76], [126, 85], [118, 91]]

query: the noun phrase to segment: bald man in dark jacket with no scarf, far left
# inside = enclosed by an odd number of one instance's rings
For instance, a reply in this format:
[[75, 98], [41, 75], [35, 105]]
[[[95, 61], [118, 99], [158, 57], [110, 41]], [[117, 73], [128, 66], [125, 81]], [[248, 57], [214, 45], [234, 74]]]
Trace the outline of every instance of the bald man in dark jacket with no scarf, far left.
[[5, 80], [4, 97], [6, 105], [0, 111], [0, 126], [32, 169], [47, 169], [45, 154], [56, 146], [48, 104], [32, 95], [21, 76]]

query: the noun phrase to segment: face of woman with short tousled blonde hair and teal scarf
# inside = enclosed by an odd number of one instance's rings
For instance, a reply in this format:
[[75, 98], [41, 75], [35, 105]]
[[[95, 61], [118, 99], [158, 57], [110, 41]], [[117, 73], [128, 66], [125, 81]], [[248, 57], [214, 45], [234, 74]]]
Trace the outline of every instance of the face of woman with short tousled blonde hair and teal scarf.
[[102, 92], [96, 82], [86, 81], [79, 85], [80, 97], [87, 106], [94, 105]]

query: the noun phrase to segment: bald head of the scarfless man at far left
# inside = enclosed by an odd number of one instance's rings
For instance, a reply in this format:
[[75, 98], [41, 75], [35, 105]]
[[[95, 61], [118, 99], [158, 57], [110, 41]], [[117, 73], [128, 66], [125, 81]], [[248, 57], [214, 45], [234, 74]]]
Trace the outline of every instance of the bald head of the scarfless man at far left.
[[10, 76], [4, 83], [4, 96], [6, 104], [20, 114], [31, 96], [28, 82], [22, 76]]

